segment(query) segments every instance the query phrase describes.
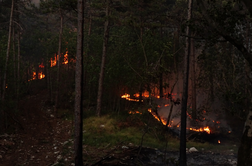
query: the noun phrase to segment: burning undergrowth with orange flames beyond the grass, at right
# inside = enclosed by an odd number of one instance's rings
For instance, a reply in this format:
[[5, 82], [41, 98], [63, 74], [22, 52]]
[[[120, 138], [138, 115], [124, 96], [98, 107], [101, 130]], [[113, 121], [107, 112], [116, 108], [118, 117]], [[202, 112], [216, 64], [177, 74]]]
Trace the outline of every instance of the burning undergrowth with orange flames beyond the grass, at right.
[[[144, 99], [150, 100], [150, 95], [145, 92], [142, 94], [143, 100], [139, 100], [139, 94], [131, 97], [129, 94], [122, 95], [128, 101], [143, 102]], [[180, 135], [180, 104], [181, 94], [167, 93], [164, 98], [151, 96], [152, 104], [148, 112], [169, 130]], [[141, 114], [139, 111], [129, 111], [129, 114]], [[192, 109], [188, 107], [187, 112], [187, 135], [189, 140], [206, 140], [208, 142], [221, 143], [220, 138], [232, 132], [224, 119], [219, 118], [216, 112], [207, 112], [205, 109], [197, 111], [197, 118], [192, 118]]]

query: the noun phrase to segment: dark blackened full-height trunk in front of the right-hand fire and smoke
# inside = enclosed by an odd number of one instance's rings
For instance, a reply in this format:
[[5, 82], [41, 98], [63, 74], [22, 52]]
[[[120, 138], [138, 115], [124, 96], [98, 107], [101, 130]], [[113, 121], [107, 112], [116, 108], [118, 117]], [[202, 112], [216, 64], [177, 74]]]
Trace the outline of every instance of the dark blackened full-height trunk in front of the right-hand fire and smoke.
[[[192, 0], [188, 1], [188, 18], [190, 22], [192, 18]], [[186, 166], [186, 118], [187, 118], [187, 98], [188, 98], [188, 76], [189, 76], [189, 56], [191, 52], [191, 31], [189, 25], [186, 28], [186, 51], [184, 58], [184, 79], [183, 79], [183, 95], [181, 103], [181, 129], [180, 129], [180, 156], [179, 165]]]

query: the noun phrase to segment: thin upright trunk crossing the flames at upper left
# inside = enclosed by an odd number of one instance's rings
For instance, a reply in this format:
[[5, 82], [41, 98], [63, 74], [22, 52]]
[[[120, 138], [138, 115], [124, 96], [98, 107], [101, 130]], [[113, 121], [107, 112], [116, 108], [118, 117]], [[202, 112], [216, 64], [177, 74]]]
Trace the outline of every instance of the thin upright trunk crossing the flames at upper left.
[[57, 58], [57, 79], [56, 79], [56, 96], [55, 96], [55, 108], [59, 107], [59, 86], [60, 86], [60, 55], [61, 55], [61, 43], [62, 43], [62, 31], [63, 31], [63, 16], [61, 8], [60, 10], [60, 33], [59, 33], [59, 49], [58, 49], [58, 58]]

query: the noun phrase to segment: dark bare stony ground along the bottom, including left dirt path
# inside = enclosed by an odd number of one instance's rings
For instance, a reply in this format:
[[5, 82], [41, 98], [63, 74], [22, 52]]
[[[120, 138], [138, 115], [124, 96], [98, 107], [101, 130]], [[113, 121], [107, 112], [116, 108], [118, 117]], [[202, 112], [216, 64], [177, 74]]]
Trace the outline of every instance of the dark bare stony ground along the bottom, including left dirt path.
[[[20, 102], [20, 118], [13, 134], [0, 135], [0, 166], [70, 166], [73, 160], [71, 120], [57, 116], [46, 106], [46, 92]], [[188, 152], [189, 165], [236, 165], [232, 149]], [[95, 149], [83, 145], [85, 165], [169, 165], [178, 163], [178, 151], [161, 151], [134, 145]], [[92, 158], [88, 160], [87, 158]], [[92, 161], [92, 162], [91, 162]]]

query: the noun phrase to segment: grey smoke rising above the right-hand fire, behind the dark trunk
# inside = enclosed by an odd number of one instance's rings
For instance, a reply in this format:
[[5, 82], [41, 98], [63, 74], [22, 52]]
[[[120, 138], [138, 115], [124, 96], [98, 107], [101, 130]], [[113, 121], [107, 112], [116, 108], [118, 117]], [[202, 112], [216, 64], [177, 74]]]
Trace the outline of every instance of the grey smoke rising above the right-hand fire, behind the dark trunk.
[[[169, 88], [166, 89], [165, 94], [166, 98], [155, 98], [153, 99], [154, 103], [158, 105], [157, 112], [160, 118], [167, 119], [169, 113], [171, 111], [172, 102], [167, 98], [167, 94], [169, 93], [174, 101], [179, 99], [182, 101], [182, 91], [183, 91], [183, 77], [180, 74], [177, 77], [173, 75], [166, 80], [169, 83]], [[191, 114], [191, 106], [192, 106], [192, 89], [189, 82], [188, 89], [188, 113]], [[209, 126], [211, 130], [215, 130], [214, 132], [231, 132], [232, 129], [227, 124], [225, 111], [222, 109], [222, 103], [220, 100], [215, 99], [215, 101], [210, 101], [209, 95], [205, 92], [204, 89], [197, 89], [197, 123], [195, 127], [206, 127]], [[181, 113], [181, 103], [173, 104], [172, 114], [170, 118], [171, 126], [180, 125], [180, 113]], [[193, 120], [188, 115], [187, 116], [187, 127], [192, 126]], [[195, 123], [194, 123], [195, 124]]]

